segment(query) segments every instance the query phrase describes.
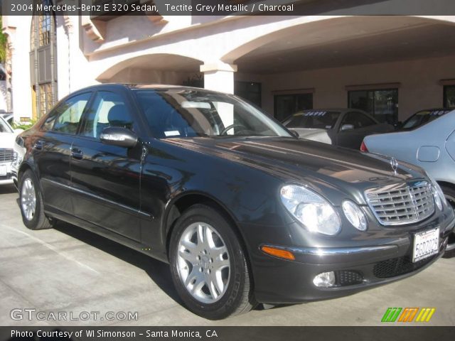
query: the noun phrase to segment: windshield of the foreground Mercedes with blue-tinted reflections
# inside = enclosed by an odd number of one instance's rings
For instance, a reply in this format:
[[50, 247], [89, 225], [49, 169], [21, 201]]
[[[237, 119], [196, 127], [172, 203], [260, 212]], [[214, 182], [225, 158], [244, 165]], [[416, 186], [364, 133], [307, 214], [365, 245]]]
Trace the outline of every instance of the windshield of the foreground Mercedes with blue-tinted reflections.
[[246, 102], [203, 90], [134, 89], [147, 123], [159, 139], [195, 136], [291, 136]]

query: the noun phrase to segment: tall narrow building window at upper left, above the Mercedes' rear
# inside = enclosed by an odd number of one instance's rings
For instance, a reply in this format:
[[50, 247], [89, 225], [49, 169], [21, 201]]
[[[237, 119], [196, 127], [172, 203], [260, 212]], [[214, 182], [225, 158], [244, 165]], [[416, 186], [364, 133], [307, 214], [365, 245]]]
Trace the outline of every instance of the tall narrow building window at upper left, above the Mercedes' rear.
[[[52, 5], [50, 0], [34, 2]], [[33, 14], [30, 35], [33, 117], [41, 117], [57, 99], [55, 16], [52, 11], [35, 11]]]

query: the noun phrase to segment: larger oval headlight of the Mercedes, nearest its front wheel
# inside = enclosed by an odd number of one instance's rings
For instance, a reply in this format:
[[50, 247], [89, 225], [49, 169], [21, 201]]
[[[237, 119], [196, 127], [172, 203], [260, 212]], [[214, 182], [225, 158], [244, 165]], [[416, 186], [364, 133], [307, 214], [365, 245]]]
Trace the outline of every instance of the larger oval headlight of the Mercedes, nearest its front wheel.
[[332, 205], [320, 195], [298, 185], [284, 185], [279, 191], [284, 207], [309, 232], [333, 236], [341, 229], [341, 221]]

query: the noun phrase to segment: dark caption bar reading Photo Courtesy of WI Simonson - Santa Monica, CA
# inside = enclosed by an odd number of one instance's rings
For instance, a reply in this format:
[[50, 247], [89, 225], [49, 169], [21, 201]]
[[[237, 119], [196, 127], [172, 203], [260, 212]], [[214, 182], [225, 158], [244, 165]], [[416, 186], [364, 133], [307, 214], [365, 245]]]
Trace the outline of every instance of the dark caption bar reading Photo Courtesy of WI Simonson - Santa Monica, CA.
[[[39, 331], [39, 332], [38, 332]], [[23, 336], [18, 336], [23, 335]], [[47, 335], [43, 337], [43, 335]], [[87, 336], [92, 335], [92, 336]], [[113, 336], [118, 335], [118, 336]], [[134, 336], [132, 336], [134, 335]], [[455, 327], [0, 327], [0, 341], [427, 341], [452, 340]], [[41, 336], [41, 337], [40, 337]]]

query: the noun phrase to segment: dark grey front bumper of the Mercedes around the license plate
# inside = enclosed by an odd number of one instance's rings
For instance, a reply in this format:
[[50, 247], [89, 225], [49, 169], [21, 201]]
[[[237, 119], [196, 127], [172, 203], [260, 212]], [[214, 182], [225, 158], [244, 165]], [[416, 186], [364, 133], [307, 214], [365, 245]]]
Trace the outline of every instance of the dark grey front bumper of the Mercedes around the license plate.
[[[416, 263], [412, 263], [412, 235], [416, 231], [402, 233], [373, 246], [283, 247], [274, 243], [261, 244], [259, 250], [250, 250], [256, 299], [271, 304], [319, 301], [412, 276], [444, 254], [454, 226], [455, 217], [451, 215], [440, 229], [439, 253]], [[260, 251], [263, 245], [291, 251], [295, 260], [264, 254]], [[334, 272], [335, 285], [330, 288], [315, 286], [314, 277], [328, 271]]]

